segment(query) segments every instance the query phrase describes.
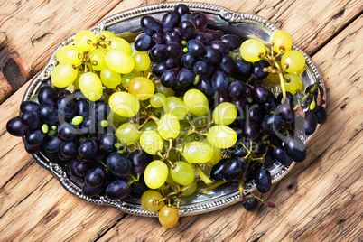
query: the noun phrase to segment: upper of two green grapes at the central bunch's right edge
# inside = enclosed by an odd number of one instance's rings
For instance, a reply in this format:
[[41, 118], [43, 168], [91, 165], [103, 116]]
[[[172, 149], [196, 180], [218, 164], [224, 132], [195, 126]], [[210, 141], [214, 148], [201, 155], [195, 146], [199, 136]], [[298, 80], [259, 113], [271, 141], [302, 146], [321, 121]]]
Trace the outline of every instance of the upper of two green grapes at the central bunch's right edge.
[[237, 108], [229, 102], [221, 103], [214, 109], [212, 117], [217, 125], [228, 126], [236, 120]]

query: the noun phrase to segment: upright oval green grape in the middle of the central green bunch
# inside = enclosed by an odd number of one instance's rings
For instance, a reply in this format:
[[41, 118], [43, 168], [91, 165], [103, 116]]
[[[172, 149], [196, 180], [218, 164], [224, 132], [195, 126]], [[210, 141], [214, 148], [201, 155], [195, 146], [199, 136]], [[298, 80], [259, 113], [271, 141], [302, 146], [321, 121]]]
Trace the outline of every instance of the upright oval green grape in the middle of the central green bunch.
[[180, 132], [181, 126], [176, 116], [166, 114], [158, 123], [157, 130], [164, 140], [175, 139]]

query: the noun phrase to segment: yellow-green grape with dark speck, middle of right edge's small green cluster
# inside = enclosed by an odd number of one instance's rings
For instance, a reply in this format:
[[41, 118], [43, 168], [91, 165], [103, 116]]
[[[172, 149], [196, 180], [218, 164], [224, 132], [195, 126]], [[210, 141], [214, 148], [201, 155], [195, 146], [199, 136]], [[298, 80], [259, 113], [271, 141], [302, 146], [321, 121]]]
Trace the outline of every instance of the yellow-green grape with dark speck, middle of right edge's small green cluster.
[[281, 65], [286, 72], [299, 72], [305, 67], [305, 57], [300, 51], [287, 51], [281, 58]]

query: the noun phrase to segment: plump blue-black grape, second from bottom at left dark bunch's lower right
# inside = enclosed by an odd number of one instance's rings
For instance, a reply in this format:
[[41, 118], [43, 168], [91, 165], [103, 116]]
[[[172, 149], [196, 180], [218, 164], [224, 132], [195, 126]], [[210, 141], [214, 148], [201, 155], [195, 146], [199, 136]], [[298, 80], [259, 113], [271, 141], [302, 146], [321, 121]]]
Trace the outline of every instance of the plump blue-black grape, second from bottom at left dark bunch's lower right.
[[108, 170], [116, 176], [127, 176], [132, 169], [131, 161], [119, 153], [109, 154], [106, 163]]

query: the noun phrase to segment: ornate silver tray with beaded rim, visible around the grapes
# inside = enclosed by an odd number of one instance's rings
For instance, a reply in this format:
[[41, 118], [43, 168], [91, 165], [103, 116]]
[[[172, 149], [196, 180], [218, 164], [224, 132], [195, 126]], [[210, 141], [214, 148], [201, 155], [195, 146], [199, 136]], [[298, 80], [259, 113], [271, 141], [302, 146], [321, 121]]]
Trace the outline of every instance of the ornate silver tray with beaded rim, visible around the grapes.
[[[225, 33], [235, 33], [242, 39], [258, 38], [262, 41], [268, 42], [272, 33], [277, 30], [273, 23], [253, 15], [253, 14], [238, 14], [231, 12], [218, 5], [200, 4], [200, 3], [183, 3], [191, 8], [191, 11], [200, 11], [207, 15], [209, 19], [210, 29], [219, 29]], [[125, 38], [128, 42], [134, 42], [135, 37], [141, 33], [140, 18], [149, 14], [157, 19], [161, 19], [163, 14], [172, 10], [178, 3], [167, 3], [159, 5], [148, 5], [135, 8], [120, 14], [113, 15], [92, 27], [90, 30], [94, 33], [99, 33], [102, 30], [109, 30], [116, 33], [117, 36]], [[70, 36], [67, 40], [61, 43], [62, 45], [70, 44], [73, 42], [74, 35]], [[57, 50], [58, 50], [57, 48]], [[316, 79], [321, 78], [321, 74], [316, 66], [312, 63], [311, 58], [302, 50], [293, 46], [294, 50], [301, 51], [306, 58], [306, 67], [302, 73], [302, 79], [305, 87], [315, 83]], [[57, 51], [56, 50], [56, 51]], [[51, 71], [56, 66], [55, 51], [51, 55], [50, 61], [46, 64], [41, 73], [33, 77], [30, 87], [26, 90], [23, 101], [29, 100], [37, 93], [41, 85], [47, 82], [51, 76]], [[322, 82], [322, 81], [321, 81]], [[322, 83], [324, 88], [324, 84]], [[325, 97], [325, 88], [324, 88]], [[318, 126], [319, 127], [319, 126]], [[315, 131], [316, 132], [316, 131]], [[302, 137], [305, 144], [312, 138], [312, 135]], [[73, 195], [82, 200], [98, 204], [107, 205], [119, 209], [121, 211], [154, 217], [156, 213], [145, 211], [140, 204], [138, 198], [130, 198], [126, 200], [108, 200], [106, 197], [98, 196], [90, 198], [85, 196], [77, 181], [71, 181], [67, 176], [66, 171], [57, 163], [52, 163], [44, 154], [33, 154], [33, 159], [39, 163], [46, 171], [51, 172], [60, 182], [61, 185]], [[273, 183], [281, 180], [288, 172], [293, 169], [295, 163], [290, 166], [284, 166], [280, 163], [275, 163], [269, 168], [272, 175]], [[195, 192], [189, 197], [181, 200], [180, 214], [181, 216], [194, 215], [205, 213], [216, 209], [227, 207], [236, 203], [239, 200], [238, 184], [237, 182], [225, 183], [214, 190], [208, 190], [203, 184], [198, 184], [200, 191]], [[251, 181], [245, 185], [245, 193], [255, 191], [256, 184]]]

